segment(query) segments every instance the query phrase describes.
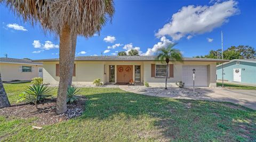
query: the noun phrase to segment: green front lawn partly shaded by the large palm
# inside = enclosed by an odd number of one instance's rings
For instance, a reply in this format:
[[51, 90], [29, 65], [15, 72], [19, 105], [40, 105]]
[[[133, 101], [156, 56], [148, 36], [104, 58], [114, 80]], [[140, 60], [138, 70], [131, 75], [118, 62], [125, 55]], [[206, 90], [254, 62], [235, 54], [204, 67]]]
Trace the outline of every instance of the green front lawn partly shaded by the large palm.
[[[16, 85], [19, 85], [17, 87]], [[11, 102], [28, 84], [4, 84]], [[15, 89], [14, 89], [15, 88]], [[20, 89], [18, 89], [20, 88]], [[57, 88], [53, 88], [56, 95]], [[255, 141], [256, 111], [224, 102], [175, 100], [119, 88], [82, 88], [81, 117], [33, 130], [32, 119], [0, 117], [3, 141]], [[11, 96], [11, 97], [10, 97]], [[235, 109], [234, 109], [235, 108]]]

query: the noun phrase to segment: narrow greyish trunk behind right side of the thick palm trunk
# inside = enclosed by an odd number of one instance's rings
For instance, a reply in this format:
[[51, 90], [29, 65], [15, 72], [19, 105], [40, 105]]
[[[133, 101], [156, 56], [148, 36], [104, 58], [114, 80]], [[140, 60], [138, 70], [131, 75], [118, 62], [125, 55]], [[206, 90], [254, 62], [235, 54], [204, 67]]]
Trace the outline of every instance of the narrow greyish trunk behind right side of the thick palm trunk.
[[73, 77], [73, 70], [74, 70], [74, 60], [76, 54], [76, 38], [77, 34], [71, 34], [71, 66], [70, 66], [70, 73], [68, 78], [68, 86], [72, 85], [72, 77]]

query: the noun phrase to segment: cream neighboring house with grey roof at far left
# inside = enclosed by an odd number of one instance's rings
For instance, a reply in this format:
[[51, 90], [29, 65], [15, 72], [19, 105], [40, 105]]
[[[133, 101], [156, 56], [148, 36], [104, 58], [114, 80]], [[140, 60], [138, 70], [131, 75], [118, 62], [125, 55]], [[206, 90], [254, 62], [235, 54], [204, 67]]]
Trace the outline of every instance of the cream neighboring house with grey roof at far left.
[[28, 59], [0, 58], [0, 72], [3, 82], [29, 81], [43, 77], [43, 64]]

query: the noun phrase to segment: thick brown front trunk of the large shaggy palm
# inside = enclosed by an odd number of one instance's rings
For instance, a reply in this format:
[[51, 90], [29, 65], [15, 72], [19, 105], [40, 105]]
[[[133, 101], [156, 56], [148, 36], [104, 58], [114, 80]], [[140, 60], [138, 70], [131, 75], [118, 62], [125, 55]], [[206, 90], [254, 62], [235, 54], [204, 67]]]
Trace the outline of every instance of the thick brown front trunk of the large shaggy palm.
[[67, 111], [67, 89], [71, 65], [71, 32], [68, 25], [60, 33], [60, 82], [57, 95], [57, 114]]

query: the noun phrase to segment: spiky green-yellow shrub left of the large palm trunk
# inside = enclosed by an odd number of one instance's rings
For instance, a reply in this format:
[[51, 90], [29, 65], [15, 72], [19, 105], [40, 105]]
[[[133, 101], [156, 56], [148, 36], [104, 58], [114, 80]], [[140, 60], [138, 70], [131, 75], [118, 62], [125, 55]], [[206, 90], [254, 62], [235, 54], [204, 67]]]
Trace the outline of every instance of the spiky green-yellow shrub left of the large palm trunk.
[[37, 102], [41, 102], [46, 97], [51, 95], [46, 95], [50, 93], [50, 88], [44, 84], [33, 84], [32, 86], [28, 86], [25, 92], [21, 93], [19, 96], [19, 100], [17, 102], [25, 101], [25, 103], [34, 103], [37, 109]]

